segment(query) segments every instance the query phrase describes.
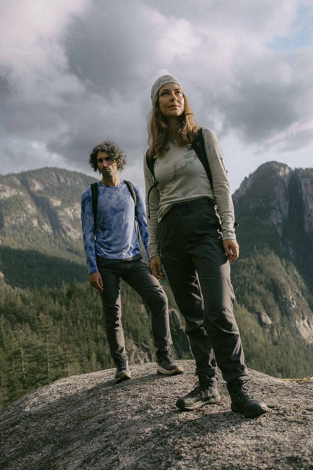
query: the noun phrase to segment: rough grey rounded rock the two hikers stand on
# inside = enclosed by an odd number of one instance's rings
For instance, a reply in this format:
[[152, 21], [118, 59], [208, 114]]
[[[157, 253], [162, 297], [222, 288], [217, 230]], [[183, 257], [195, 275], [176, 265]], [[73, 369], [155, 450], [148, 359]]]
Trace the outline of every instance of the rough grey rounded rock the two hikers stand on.
[[250, 390], [270, 413], [247, 419], [221, 404], [182, 412], [177, 397], [196, 381], [192, 360], [180, 376], [156, 364], [63, 378], [25, 395], [0, 415], [0, 469], [313, 469], [313, 381], [286, 382], [250, 370]]

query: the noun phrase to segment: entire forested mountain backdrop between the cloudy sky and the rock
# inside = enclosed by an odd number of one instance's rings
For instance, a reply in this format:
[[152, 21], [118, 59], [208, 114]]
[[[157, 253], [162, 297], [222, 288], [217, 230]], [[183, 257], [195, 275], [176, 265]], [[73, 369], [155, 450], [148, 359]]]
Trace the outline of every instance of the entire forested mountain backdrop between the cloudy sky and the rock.
[[[56, 378], [114, 367], [87, 281], [80, 195], [92, 178], [57, 168], [0, 176], [0, 406]], [[269, 162], [234, 194], [232, 264], [249, 367], [313, 373], [313, 169]], [[191, 357], [167, 282], [177, 358]], [[46, 286], [46, 287], [44, 287]], [[122, 284], [131, 362], [154, 359], [149, 312]]]

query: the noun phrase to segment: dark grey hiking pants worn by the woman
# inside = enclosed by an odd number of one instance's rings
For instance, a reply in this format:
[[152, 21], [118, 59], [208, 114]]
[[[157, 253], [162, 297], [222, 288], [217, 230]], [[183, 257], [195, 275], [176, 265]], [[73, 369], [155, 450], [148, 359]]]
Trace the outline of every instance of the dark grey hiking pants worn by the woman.
[[206, 197], [174, 204], [159, 224], [159, 241], [168, 281], [186, 320], [196, 375], [214, 376], [215, 357], [226, 382], [248, 375], [215, 207]]

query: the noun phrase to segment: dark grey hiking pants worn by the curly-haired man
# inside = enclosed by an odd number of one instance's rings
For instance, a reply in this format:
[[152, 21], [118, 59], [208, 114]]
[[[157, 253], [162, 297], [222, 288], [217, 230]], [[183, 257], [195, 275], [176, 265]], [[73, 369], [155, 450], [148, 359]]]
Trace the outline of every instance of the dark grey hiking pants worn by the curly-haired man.
[[172, 344], [168, 320], [168, 298], [149, 267], [138, 257], [131, 260], [97, 257], [102, 277], [100, 292], [107, 342], [113, 360], [126, 354], [122, 329], [120, 278], [127, 282], [149, 305], [154, 345], [159, 348]]

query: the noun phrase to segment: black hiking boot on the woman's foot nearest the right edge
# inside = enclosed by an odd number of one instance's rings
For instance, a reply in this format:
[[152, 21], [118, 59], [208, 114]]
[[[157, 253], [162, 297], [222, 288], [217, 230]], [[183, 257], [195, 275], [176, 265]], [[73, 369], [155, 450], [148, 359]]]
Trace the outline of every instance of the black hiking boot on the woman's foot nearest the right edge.
[[246, 376], [242, 376], [229, 382], [227, 390], [231, 398], [231, 409], [235, 413], [242, 413], [246, 418], [256, 418], [269, 411], [263, 401], [254, 398], [248, 387], [245, 385], [249, 380]]

